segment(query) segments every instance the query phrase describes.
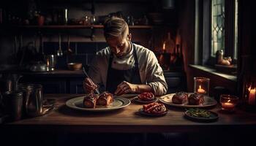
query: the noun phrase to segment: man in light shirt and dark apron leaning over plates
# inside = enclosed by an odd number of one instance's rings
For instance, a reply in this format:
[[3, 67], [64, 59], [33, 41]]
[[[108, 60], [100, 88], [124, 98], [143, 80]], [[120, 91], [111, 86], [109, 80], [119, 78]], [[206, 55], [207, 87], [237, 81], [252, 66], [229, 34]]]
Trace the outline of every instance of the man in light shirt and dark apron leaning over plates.
[[116, 95], [152, 92], [162, 96], [167, 84], [156, 56], [146, 47], [131, 42], [132, 34], [125, 20], [109, 18], [104, 23], [108, 44], [91, 61], [89, 77], [83, 81], [86, 93], [95, 88]]

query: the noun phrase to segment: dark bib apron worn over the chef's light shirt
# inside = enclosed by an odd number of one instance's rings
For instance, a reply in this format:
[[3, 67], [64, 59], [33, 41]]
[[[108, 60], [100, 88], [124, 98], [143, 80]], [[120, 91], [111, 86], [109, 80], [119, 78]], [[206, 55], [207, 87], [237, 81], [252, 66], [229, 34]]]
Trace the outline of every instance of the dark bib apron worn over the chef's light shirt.
[[113, 69], [111, 66], [113, 61], [113, 53], [110, 53], [110, 59], [108, 61], [108, 78], [106, 91], [114, 93], [116, 91], [117, 86], [123, 81], [127, 81], [132, 84], [141, 84], [137, 53], [135, 51], [135, 46], [133, 44], [132, 46], [132, 55], [135, 58], [135, 67], [133, 67], [132, 69]]

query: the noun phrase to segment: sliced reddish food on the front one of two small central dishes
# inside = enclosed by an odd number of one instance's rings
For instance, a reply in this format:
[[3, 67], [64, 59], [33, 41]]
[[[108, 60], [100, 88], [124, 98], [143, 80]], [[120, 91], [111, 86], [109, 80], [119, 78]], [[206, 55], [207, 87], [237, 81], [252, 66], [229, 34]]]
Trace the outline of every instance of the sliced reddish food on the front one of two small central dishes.
[[166, 107], [164, 104], [154, 102], [143, 105], [143, 111], [148, 114], [161, 115], [166, 112]]

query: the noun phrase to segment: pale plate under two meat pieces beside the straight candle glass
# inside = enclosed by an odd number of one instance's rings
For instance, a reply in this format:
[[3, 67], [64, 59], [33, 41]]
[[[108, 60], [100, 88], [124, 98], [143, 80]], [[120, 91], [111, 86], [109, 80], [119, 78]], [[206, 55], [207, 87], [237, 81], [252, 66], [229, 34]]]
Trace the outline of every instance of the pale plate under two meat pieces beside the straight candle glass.
[[[173, 106], [173, 107], [211, 107], [217, 104], [217, 101], [209, 96], [203, 96], [204, 102], [200, 105], [189, 105], [187, 102], [184, 104], [173, 104], [173, 95], [175, 93], [170, 93], [165, 96], [160, 97], [159, 101], [164, 104]], [[189, 95], [192, 93], [188, 93]]]

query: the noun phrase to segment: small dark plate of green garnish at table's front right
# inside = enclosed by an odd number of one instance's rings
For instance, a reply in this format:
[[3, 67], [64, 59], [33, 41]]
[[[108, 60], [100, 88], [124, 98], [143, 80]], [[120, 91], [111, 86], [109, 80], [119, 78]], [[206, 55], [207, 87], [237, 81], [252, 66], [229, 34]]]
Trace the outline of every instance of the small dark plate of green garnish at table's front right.
[[219, 115], [209, 110], [191, 108], [185, 112], [184, 117], [195, 122], [214, 122], [218, 120]]

